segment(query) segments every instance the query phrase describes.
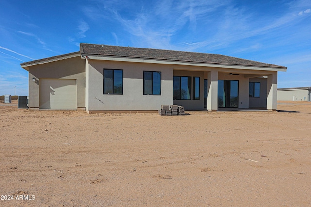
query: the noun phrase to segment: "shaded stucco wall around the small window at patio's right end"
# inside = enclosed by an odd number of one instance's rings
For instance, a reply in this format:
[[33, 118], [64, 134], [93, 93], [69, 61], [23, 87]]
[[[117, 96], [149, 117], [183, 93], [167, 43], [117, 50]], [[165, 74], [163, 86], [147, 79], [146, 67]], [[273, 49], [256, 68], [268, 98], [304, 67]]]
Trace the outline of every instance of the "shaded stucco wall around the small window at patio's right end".
[[250, 97], [250, 108], [266, 108], [267, 107], [267, 79], [266, 78], [250, 78], [249, 82], [260, 82], [260, 97]]

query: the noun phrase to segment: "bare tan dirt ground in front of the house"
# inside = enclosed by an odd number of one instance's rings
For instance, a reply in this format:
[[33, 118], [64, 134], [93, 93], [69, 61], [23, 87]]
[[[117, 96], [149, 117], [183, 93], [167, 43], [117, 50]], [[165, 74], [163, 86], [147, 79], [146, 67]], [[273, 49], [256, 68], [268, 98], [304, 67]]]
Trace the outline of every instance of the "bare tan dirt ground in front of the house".
[[89, 115], [1, 104], [0, 206], [309, 207], [311, 103], [278, 110]]

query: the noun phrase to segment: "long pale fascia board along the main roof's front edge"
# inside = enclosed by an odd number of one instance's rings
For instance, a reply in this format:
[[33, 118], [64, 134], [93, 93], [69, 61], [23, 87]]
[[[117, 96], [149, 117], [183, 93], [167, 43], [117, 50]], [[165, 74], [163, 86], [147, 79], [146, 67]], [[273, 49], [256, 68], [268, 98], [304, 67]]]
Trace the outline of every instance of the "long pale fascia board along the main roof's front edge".
[[82, 54], [82, 58], [88, 58], [91, 60], [105, 60], [105, 61], [122, 61], [122, 62], [136, 62], [136, 63], [153, 63], [153, 64], [175, 64], [175, 65], [189, 65], [189, 66], [203, 66], [203, 67], [216, 67], [216, 68], [229, 68], [229, 69], [247, 69], [247, 70], [266, 70], [266, 71], [286, 71], [283, 68], [277, 67], [256, 67], [246, 65], [230, 65], [230, 64], [208, 64], [208, 63], [196, 63], [196, 62], [182, 62], [173, 60], [155, 60], [155, 59], [143, 59], [143, 58], [128, 58], [118, 56], [103, 56], [103, 55], [88, 55]]

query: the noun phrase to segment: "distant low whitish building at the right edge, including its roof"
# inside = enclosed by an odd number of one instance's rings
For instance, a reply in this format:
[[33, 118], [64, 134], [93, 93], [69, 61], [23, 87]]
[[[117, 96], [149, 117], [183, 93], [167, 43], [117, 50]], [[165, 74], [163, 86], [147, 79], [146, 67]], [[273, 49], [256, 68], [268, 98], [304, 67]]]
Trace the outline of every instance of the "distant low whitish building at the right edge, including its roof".
[[278, 101], [311, 101], [311, 87], [278, 88]]

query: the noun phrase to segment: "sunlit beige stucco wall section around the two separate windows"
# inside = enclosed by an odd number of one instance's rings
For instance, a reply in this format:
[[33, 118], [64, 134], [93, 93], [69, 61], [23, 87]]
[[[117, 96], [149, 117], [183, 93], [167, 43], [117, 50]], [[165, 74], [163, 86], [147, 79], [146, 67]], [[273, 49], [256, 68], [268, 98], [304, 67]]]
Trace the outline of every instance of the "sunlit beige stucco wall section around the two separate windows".
[[[88, 110], [159, 110], [173, 104], [173, 67], [170, 65], [88, 60]], [[123, 94], [103, 94], [105, 69], [123, 70]], [[161, 95], [143, 95], [143, 71], [161, 72]]]

